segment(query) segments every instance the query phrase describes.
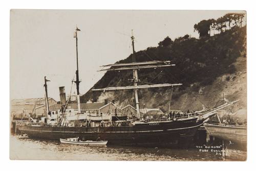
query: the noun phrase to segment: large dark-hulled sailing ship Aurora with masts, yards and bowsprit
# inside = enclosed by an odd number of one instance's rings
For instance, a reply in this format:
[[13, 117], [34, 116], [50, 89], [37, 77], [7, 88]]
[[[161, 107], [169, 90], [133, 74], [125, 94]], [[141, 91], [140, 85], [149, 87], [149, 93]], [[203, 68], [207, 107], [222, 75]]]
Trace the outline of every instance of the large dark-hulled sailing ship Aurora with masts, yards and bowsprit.
[[[202, 110], [198, 112], [183, 113], [182, 116], [169, 116], [167, 119], [161, 120], [144, 120], [140, 115], [140, 105], [138, 91], [141, 89], [157, 88], [157, 87], [174, 87], [182, 85], [179, 84], [153, 84], [153, 85], [138, 85], [140, 82], [138, 77], [138, 70], [144, 68], [157, 68], [175, 66], [170, 61], [148, 61], [137, 62], [134, 49], [134, 36], [131, 36], [133, 54], [132, 63], [116, 63], [105, 65], [110, 67], [102, 69], [103, 71], [111, 70], [132, 70], [133, 78], [130, 81], [132, 86], [125, 87], [106, 87], [93, 89], [93, 91], [113, 91], [113, 90], [132, 90], [135, 99], [135, 117], [124, 119], [118, 118], [118, 115], [110, 117], [108, 124], [94, 126], [89, 124], [92, 121], [91, 116], [87, 113], [82, 113], [80, 108], [79, 97], [79, 75], [78, 75], [78, 53], [77, 53], [77, 31], [75, 30], [74, 37], [76, 38], [76, 57], [77, 57], [77, 70], [76, 70], [76, 89], [77, 89], [77, 107], [78, 112], [74, 115], [78, 120], [85, 120], [86, 124], [81, 126], [70, 126], [68, 114], [66, 113], [66, 105], [61, 108], [62, 116], [57, 119], [56, 124], [48, 123], [29, 123], [21, 125], [19, 130], [26, 133], [30, 138], [40, 139], [54, 139], [59, 140], [69, 137], [81, 137], [84, 139], [96, 140], [100, 137], [101, 140], [108, 141], [108, 144], [118, 145], [140, 145], [140, 146], [170, 146], [184, 148], [189, 145], [197, 129], [202, 126], [211, 116], [214, 116], [218, 110], [225, 108], [229, 105], [236, 103], [228, 102], [222, 106], [211, 110]], [[47, 80], [45, 80], [46, 88], [46, 103], [47, 103]], [[49, 112], [49, 105], [47, 105], [47, 112]], [[118, 118], [118, 119], [113, 119]], [[50, 118], [49, 118], [50, 119]], [[74, 118], [73, 118], [74, 119]], [[102, 120], [103, 121], [103, 120]], [[64, 124], [65, 123], [65, 124]]]

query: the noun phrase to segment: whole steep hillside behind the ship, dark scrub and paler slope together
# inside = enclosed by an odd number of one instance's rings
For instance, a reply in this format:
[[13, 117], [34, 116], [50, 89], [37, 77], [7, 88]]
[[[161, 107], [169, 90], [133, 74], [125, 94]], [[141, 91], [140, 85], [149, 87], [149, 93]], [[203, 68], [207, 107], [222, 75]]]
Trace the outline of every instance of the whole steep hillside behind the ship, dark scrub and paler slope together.
[[[167, 40], [167, 39], [165, 39]], [[138, 71], [142, 84], [182, 83], [175, 87], [172, 109], [197, 110], [222, 103], [223, 92], [228, 100], [241, 99], [236, 108], [246, 109], [246, 26], [232, 28], [214, 36], [200, 39], [179, 37], [170, 43], [159, 42], [137, 52], [136, 60], [170, 60], [176, 66]], [[117, 63], [131, 62], [131, 55]], [[132, 85], [131, 71], [108, 71], [92, 88]], [[147, 108], [168, 110], [170, 88], [141, 90], [140, 98]], [[104, 99], [124, 101], [127, 91], [92, 92], [81, 96], [82, 102], [102, 102]]]

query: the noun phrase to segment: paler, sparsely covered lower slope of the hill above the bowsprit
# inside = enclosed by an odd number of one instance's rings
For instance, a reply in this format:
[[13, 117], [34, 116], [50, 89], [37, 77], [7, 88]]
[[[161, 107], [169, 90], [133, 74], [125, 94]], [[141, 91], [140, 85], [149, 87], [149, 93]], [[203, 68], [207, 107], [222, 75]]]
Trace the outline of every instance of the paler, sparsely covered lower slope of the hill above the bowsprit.
[[[234, 111], [238, 109], [246, 109], [246, 58], [239, 57], [234, 65], [237, 70], [234, 74], [224, 74], [221, 77], [216, 78], [214, 83], [204, 87], [203, 94], [199, 94], [198, 91], [193, 91], [191, 87], [184, 90], [184, 94], [179, 96], [177, 100], [172, 101], [172, 108], [183, 110], [197, 110], [199, 108], [200, 110], [202, 108], [202, 103], [209, 107], [212, 107], [215, 104], [220, 105], [222, 103], [224, 92], [225, 98], [229, 101], [241, 100], [234, 106]], [[228, 81], [226, 78], [230, 78], [230, 80]]]

